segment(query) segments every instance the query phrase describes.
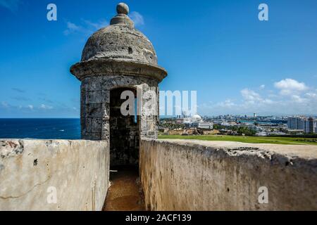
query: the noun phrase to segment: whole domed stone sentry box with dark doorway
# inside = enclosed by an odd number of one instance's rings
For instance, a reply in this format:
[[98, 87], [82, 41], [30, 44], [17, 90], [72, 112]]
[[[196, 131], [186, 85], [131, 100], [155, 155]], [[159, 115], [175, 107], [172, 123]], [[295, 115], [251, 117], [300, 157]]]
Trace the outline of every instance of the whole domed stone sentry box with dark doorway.
[[[158, 66], [153, 45], [135, 29], [126, 4], [118, 4], [108, 27], [89, 37], [80, 63], [70, 72], [80, 79], [80, 120], [82, 139], [109, 140], [111, 166], [138, 162], [139, 138], [157, 138], [159, 123], [159, 82], [167, 72]], [[156, 101], [156, 112], [138, 109], [137, 120], [118, 113], [120, 92], [139, 90], [137, 101]], [[146, 94], [155, 91], [156, 96]], [[151, 98], [156, 98], [151, 99]], [[111, 106], [112, 105], [112, 106]], [[111, 107], [117, 108], [111, 109]], [[111, 115], [111, 113], [113, 115]]]

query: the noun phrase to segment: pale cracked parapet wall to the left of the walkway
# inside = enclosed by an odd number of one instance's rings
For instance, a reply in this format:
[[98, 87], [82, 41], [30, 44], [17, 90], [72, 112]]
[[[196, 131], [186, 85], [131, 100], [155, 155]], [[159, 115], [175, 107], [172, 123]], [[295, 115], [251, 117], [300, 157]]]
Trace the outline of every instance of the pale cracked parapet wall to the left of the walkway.
[[0, 211], [101, 210], [108, 168], [107, 141], [0, 140]]

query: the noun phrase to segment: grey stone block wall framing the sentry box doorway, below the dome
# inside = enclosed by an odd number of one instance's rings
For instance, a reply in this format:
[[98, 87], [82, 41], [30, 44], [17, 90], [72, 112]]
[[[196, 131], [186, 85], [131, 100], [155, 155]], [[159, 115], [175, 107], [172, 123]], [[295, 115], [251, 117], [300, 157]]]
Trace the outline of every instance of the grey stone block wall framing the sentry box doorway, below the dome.
[[[110, 91], [121, 87], [142, 90], [142, 105], [146, 105], [151, 96], [147, 91], [156, 91], [156, 102], [159, 102], [158, 81], [147, 77], [135, 76], [92, 76], [82, 80], [81, 86], [81, 124], [82, 139], [108, 140], [110, 119]], [[147, 98], [148, 97], [148, 98]], [[143, 108], [142, 108], [143, 110]], [[153, 116], [144, 116], [140, 112], [140, 135], [147, 138], [157, 137], [159, 123], [159, 106]]]

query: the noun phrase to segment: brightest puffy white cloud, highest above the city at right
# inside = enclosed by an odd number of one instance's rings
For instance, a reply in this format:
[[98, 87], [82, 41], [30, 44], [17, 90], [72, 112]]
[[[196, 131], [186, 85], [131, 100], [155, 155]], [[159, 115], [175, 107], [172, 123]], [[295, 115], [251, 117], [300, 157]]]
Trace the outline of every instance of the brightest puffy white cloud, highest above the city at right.
[[280, 89], [281, 95], [292, 95], [308, 89], [304, 82], [298, 82], [295, 79], [282, 79], [280, 82], [274, 83], [275, 88]]

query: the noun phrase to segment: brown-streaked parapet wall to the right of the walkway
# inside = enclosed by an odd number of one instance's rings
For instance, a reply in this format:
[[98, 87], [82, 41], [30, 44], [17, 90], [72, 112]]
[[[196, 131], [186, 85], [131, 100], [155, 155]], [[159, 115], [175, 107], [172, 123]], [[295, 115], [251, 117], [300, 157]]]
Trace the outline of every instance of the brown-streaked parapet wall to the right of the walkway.
[[142, 140], [139, 160], [148, 210], [317, 210], [317, 146]]

